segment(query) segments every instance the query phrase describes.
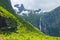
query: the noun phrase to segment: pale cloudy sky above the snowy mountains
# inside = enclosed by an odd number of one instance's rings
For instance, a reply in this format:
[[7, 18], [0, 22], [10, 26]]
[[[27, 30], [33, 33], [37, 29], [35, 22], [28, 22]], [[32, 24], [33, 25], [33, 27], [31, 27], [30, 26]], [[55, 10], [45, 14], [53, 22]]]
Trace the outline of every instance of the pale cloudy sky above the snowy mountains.
[[60, 6], [60, 0], [11, 0], [13, 8], [15, 4], [24, 4], [26, 9], [42, 9], [42, 11], [51, 11]]

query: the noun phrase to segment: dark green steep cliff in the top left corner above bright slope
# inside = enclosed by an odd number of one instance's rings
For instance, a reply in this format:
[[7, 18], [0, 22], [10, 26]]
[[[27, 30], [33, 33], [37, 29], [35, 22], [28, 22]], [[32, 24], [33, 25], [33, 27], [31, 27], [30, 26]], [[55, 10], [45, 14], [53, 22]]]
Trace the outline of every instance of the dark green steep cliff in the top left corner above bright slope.
[[0, 0], [0, 6], [4, 7], [11, 13], [14, 13], [10, 0]]

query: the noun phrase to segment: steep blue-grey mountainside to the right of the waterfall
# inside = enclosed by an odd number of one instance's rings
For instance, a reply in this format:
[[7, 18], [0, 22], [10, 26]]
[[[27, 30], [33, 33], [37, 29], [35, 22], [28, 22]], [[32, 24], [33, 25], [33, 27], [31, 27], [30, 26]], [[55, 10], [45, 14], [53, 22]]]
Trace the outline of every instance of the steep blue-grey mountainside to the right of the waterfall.
[[60, 36], [60, 6], [41, 17], [41, 26], [44, 33]]

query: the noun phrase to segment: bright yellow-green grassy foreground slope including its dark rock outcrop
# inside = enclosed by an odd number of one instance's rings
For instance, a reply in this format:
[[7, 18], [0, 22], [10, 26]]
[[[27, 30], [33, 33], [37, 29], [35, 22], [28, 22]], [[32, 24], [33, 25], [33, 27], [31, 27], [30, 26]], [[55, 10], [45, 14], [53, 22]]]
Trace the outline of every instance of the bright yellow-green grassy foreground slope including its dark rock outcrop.
[[[3, 3], [4, 2], [4, 3]], [[22, 19], [20, 16], [4, 8], [0, 3], [0, 39], [2, 40], [60, 40], [60, 37], [53, 37], [43, 34], [38, 28]], [[8, 2], [9, 3], [9, 2]], [[11, 7], [11, 6], [10, 6]], [[11, 8], [12, 9], [12, 8]]]

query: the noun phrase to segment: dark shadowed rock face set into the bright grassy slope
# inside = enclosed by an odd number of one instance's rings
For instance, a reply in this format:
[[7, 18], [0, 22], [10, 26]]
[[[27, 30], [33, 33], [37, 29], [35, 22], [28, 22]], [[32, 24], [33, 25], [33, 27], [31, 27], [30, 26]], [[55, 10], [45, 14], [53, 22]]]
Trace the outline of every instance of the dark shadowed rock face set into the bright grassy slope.
[[0, 30], [13, 31], [17, 29], [17, 22], [12, 18], [0, 15]]

